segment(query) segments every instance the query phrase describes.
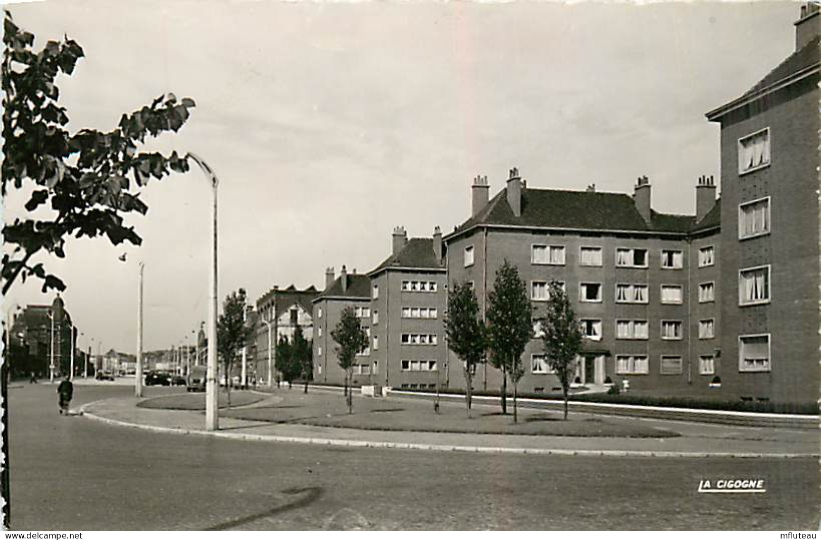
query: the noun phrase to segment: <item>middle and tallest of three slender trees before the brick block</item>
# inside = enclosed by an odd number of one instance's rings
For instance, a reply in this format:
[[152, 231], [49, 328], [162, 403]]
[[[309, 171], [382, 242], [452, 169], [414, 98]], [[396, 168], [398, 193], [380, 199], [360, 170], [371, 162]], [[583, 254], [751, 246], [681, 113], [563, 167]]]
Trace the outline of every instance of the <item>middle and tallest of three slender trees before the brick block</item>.
[[502, 368], [502, 413], [507, 414], [507, 376], [513, 382], [513, 422], [519, 421], [516, 398], [525, 374], [521, 355], [533, 336], [533, 310], [519, 270], [505, 260], [488, 295], [488, 349], [493, 365]]

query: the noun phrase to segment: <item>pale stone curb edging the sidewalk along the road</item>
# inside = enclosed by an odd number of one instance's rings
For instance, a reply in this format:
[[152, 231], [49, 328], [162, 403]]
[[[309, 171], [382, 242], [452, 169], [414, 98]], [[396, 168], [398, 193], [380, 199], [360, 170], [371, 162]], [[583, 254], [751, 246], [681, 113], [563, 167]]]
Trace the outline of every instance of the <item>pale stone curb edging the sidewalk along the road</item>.
[[779, 452], [764, 454], [760, 452], [677, 452], [677, 451], [649, 451], [649, 450], [567, 450], [562, 448], [516, 448], [508, 446], [464, 446], [464, 445], [440, 445], [425, 444], [419, 442], [386, 442], [386, 441], [356, 441], [348, 439], [318, 438], [318, 437], [285, 437], [282, 435], [259, 435], [255, 433], [227, 433], [209, 432], [202, 429], [183, 428], [163, 428], [161, 426], [150, 426], [147, 424], [126, 422], [124, 420], [109, 419], [98, 414], [89, 413], [86, 408], [99, 401], [92, 401], [80, 407], [80, 411], [85, 418], [98, 422], [123, 428], [136, 428], [145, 431], [159, 433], [176, 433], [179, 435], [199, 435], [210, 437], [221, 437], [238, 441], [259, 441], [259, 442], [296, 442], [300, 444], [313, 444], [321, 446], [355, 446], [360, 448], [396, 448], [400, 450], [426, 450], [426, 451], [461, 451], [481, 454], [517, 454], [517, 455], [598, 455], [598, 456], [621, 456], [621, 457], [683, 457], [683, 458], [706, 458], [706, 457], [730, 457], [730, 458], [775, 458], [775, 459], [796, 459], [796, 458], [819, 458], [819, 454], [800, 454], [790, 452]]

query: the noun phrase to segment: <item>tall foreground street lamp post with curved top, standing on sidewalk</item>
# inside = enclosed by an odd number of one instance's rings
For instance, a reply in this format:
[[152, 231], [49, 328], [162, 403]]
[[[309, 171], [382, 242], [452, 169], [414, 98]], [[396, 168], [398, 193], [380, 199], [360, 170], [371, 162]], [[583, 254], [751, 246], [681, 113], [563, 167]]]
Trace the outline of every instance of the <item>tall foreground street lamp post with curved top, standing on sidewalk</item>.
[[211, 182], [213, 206], [211, 211], [211, 272], [209, 279], [209, 306], [208, 306], [208, 383], [205, 387], [205, 429], [215, 431], [219, 428], [217, 380], [217, 175], [213, 173], [202, 158], [188, 153], [200, 166], [205, 176]]

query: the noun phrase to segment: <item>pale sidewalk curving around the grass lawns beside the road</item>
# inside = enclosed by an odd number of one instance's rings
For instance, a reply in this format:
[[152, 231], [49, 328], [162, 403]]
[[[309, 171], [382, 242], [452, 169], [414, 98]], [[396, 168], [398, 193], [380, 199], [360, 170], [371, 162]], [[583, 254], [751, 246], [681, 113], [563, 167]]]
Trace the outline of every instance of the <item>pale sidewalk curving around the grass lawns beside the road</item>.
[[[274, 405], [281, 399], [271, 396], [249, 406]], [[269, 442], [518, 454], [819, 457], [817, 431], [786, 428], [727, 427], [673, 420], [635, 419], [636, 422], [679, 432], [681, 437], [557, 437], [374, 431], [222, 417], [219, 420], [219, 430], [207, 432], [204, 429], [202, 411], [146, 409], [137, 407], [137, 401], [135, 397], [99, 400], [84, 405], [82, 410], [88, 419], [130, 428]]]

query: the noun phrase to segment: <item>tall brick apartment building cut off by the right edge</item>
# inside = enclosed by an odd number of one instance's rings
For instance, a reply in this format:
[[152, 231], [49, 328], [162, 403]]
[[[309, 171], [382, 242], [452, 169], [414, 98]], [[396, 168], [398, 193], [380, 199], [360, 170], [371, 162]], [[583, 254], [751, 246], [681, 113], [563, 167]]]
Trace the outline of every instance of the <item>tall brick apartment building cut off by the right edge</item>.
[[795, 50], [721, 126], [722, 386], [743, 400], [810, 401], [819, 389], [819, 7]]

